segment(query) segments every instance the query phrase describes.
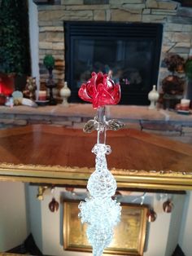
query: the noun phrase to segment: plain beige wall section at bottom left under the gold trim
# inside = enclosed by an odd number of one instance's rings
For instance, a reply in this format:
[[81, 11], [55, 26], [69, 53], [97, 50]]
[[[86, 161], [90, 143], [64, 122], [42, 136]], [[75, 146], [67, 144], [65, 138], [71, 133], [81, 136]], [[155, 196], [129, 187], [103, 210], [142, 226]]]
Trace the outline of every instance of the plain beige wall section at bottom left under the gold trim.
[[27, 236], [24, 183], [0, 182], [0, 251], [21, 245]]

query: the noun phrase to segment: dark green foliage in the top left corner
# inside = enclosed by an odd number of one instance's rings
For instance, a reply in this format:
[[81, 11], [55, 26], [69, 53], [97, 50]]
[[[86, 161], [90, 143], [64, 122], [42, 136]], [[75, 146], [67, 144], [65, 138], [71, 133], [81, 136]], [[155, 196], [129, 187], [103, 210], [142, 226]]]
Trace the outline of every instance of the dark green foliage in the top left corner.
[[0, 2], [0, 73], [30, 71], [27, 1]]

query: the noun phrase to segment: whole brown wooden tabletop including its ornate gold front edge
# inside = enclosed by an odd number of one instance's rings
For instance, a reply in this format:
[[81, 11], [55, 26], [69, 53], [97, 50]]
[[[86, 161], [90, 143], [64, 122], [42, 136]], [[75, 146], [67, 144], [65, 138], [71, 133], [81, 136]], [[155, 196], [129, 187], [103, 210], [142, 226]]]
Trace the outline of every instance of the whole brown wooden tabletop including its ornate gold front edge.
[[[0, 130], [0, 179], [85, 185], [96, 132], [33, 125]], [[107, 131], [109, 170], [121, 187], [192, 188], [192, 147], [139, 130]], [[179, 188], [178, 188], [179, 189]]]

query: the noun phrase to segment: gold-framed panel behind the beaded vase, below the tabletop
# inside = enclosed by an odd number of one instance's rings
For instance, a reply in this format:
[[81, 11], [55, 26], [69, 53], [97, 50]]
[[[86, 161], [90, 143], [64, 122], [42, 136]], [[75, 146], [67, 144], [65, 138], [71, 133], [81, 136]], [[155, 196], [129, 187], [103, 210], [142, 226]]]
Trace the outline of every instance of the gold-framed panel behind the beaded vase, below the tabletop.
[[[91, 252], [86, 224], [78, 218], [79, 201], [63, 202], [63, 248]], [[142, 256], [146, 240], [146, 205], [121, 204], [121, 220], [114, 229], [111, 245], [104, 254]]]

